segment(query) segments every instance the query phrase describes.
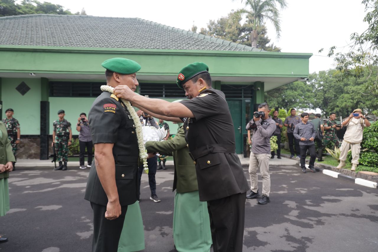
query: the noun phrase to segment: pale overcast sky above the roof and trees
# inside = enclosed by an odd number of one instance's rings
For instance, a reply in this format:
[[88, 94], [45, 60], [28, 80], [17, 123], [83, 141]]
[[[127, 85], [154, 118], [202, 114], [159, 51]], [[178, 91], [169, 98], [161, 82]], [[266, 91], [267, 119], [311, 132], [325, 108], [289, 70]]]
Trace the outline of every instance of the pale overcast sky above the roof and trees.
[[[40, 0], [40, 2], [44, 2]], [[226, 16], [232, 9], [243, 8], [240, 0], [46, 0], [71, 12], [85, 9], [88, 15], [105, 17], [139, 17], [164, 25], [189, 30], [193, 23], [207, 27], [209, 20]], [[313, 53], [310, 73], [332, 68], [333, 59], [324, 57], [328, 48], [348, 51], [350, 34], [367, 28], [362, 0], [287, 0], [281, 11], [281, 37], [277, 39], [271, 23], [268, 37], [282, 52]], [[343, 48], [345, 47], [345, 48]], [[320, 54], [320, 48], [325, 50]], [[322, 55], [322, 56], [318, 56]]]

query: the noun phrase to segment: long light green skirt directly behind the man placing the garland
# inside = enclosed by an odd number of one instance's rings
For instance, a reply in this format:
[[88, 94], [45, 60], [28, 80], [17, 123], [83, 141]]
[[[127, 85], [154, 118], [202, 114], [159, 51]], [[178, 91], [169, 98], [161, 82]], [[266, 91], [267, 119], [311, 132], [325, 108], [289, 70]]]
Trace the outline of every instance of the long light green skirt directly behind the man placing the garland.
[[207, 202], [198, 191], [176, 193], [173, 240], [178, 252], [208, 252], [212, 244]]

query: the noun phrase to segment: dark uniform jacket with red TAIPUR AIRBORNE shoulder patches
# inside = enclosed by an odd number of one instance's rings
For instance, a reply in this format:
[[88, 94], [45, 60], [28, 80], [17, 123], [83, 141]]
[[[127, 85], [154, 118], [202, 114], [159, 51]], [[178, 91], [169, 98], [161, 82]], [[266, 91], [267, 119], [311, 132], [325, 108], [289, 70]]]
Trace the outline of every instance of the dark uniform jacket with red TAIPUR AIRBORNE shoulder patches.
[[[135, 125], [121, 100], [103, 92], [94, 101], [89, 114], [93, 143], [114, 143], [115, 180], [121, 206], [131, 205], [139, 198], [137, 179], [139, 148]], [[95, 147], [96, 148], [96, 147]], [[108, 169], [114, 167], [108, 166]], [[96, 164], [88, 176], [85, 199], [106, 206], [108, 198], [96, 172]]]

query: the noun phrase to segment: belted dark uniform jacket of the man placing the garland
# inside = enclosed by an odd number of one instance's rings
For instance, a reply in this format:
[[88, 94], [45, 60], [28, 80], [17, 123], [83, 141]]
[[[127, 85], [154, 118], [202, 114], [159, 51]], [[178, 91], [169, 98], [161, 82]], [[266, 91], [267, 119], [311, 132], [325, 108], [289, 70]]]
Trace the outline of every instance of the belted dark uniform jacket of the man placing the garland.
[[195, 162], [200, 201], [211, 201], [249, 190], [235, 153], [235, 132], [223, 92], [206, 89], [180, 101], [194, 118], [183, 118], [185, 139]]

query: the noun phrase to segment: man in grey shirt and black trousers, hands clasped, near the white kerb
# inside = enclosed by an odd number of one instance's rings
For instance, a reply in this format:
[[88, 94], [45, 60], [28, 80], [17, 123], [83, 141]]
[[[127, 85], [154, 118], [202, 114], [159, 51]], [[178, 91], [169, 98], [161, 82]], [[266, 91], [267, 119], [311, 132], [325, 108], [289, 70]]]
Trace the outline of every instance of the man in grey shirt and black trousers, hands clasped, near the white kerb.
[[308, 122], [308, 113], [302, 113], [302, 122], [298, 123], [294, 129], [294, 137], [297, 138], [299, 142], [299, 148], [301, 149], [301, 168], [302, 172], [306, 173], [306, 153], [307, 150], [310, 152], [310, 165], [308, 168], [314, 173], [316, 172], [314, 168], [314, 162], [316, 159], [315, 153], [315, 129], [311, 122]]

